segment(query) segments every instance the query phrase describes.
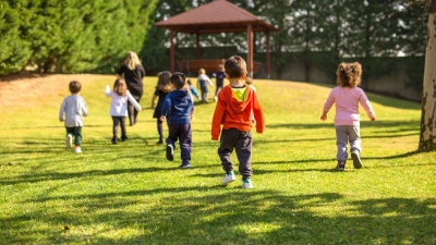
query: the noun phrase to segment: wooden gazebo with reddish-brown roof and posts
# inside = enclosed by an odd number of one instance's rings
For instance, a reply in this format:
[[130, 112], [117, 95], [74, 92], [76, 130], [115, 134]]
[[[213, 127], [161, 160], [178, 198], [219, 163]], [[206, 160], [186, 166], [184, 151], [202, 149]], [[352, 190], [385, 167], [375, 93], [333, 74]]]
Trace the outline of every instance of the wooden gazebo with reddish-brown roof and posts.
[[[210, 3], [192, 9], [184, 13], [174, 15], [168, 20], [160, 21], [156, 26], [165, 27], [170, 30], [170, 70], [175, 71], [174, 60], [174, 33], [186, 33], [195, 35], [196, 40], [196, 59], [191, 61], [191, 65], [203, 63], [207, 65], [207, 61], [199, 60], [199, 41], [198, 36], [202, 34], [214, 33], [246, 33], [247, 38], [247, 72], [253, 77], [254, 60], [253, 60], [253, 33], [263, 32], [266, 35], [266, 76], [270, 77], [270, 54], [269, 54], [269, 32], [278, 32], [278, 29], [265, 21], [258, 19], [249, 11], [239, 8], [226, 0], [215, 0]], [[210, 63], [210, 60], [208, 61]], [[218, 62], [222, 62], [218, 60]]]

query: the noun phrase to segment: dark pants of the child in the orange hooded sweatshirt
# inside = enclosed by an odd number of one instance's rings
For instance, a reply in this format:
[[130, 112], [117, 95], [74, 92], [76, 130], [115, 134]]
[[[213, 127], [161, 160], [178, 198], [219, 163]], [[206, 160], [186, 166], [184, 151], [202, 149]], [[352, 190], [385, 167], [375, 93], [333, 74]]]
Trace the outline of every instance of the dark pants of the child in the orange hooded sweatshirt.
[[239, 160], [239, 173], [242, 179], [253, 175], [252, 171], [252, 133], [235, 128], [222, 130], [218, 155], [221, 159], [222, 169], [228, 173], [233, 170], [231, 154], [237, 151]]

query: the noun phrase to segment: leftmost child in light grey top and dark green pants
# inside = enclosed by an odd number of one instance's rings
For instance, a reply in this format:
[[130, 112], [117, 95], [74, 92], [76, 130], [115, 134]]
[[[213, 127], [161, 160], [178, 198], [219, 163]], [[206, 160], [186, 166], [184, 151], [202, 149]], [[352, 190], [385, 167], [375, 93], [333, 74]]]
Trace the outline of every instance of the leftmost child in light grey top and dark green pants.
[[[88, 114], [85, 99], [80, 95], [82, 84], [77, 81], [70, 82], [70, 96], [66, 96], [59, 110], [59, 121], [63, 122], [66, 128], [66, 147], [72, 146], [74, 137], [74, 152], [82, 152], [82, 126], [83, 117]], [[65, 115], [65, 117], [64, 117]]]

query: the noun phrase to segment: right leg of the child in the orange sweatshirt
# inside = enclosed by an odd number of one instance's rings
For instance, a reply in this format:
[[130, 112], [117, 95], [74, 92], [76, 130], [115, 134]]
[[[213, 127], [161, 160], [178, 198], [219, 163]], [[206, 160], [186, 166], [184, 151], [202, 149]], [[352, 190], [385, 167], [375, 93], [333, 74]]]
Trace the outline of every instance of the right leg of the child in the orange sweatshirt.
[[242, 180], [250, 179], [253, 175], [252, 171], [252, 133], [239, 132], [240, 136], [234, 146], [238, 160], [239, 160], [239, 173], [242, 175]]

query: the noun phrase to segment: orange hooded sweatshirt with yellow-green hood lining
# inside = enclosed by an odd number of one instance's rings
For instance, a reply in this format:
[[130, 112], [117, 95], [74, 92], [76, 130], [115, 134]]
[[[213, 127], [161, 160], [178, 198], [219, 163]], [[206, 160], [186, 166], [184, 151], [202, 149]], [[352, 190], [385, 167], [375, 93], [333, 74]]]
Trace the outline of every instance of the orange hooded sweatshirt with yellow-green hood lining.
[[256, 132], [264, 133], [265, 119], [256, 91], [246, 86], [245, 100], [240, 102], [233, 97], [231, 86], [225, 86], [218, 94], [218, 102], [211, 121], [211, 139], [218, 140], [221, 124], [222, 130], [251, 131], [253, 126], [252, 110], [256, 120]]

